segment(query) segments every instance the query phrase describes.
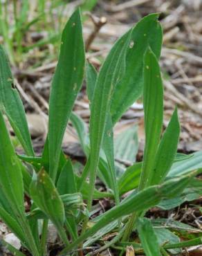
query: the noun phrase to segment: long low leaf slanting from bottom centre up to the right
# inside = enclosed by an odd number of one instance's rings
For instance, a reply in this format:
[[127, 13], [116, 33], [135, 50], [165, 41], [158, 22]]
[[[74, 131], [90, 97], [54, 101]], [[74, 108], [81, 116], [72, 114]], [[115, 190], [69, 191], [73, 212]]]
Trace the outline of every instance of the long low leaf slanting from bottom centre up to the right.
[[100, 217], [99, 221], [96, 222], [93, 227], [81, 235], [76, 241], [73, 242], [73, 244], [65, 248], [62, 253], [70, 251], [82, 241], [95, 234], [95, 232], [122, 216], [131, 214], [133, 212], [142, 212], [154, 207], [154, 205], [160, 202], [161, 199], [176, 196], [187, 187], [190, 181], [192, 181], [193, 176], [196, 174], [197, 172], [192, 172], [190, 175], [174, 178], [170, 181], [166, 181], [162, 185], [154, 185], [145, 188], [138, 193], [131, 194], [124, 201], [122, 201], [120, 205], [116, 205], [108, 212], [102, 214], [102, 217]]

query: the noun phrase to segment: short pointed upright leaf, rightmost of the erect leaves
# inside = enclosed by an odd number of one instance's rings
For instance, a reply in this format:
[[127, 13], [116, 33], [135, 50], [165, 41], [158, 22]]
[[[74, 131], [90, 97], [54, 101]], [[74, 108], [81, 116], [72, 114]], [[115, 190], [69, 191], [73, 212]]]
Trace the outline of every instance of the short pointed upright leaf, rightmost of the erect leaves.
[[177, 110], [174, 111], [172, 118], [160, 140], [160, 145], [156, 152], [154, 163], [154, 173], [151, 176], [149, 184], [155, 185], [162, 182], [174, 162], [178, 147], [178, 139], [180, 135], [180, 124], [178, 122]]

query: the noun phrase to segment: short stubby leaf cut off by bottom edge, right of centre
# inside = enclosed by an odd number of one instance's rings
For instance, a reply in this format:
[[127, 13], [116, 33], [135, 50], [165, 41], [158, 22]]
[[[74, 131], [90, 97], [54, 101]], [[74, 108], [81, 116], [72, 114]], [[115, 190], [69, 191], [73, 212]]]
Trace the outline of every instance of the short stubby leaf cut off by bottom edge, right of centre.
[[145, 254], [160, 256], [160, 246], [151, 221], [146, 218], [138, 219], [137, 229]]

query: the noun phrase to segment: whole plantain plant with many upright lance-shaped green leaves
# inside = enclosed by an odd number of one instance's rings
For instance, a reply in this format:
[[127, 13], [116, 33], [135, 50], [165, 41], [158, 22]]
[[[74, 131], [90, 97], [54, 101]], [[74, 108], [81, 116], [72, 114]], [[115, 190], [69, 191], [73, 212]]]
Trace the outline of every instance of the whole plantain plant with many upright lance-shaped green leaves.
[[[197, 237], [181, 242], [172, 232], [174, 226], [160, 228], [145, 217], [149, 208], [172, 208], [190, 193], [194, 194], [192, 199], [201, 194], [201, 181], [196, 175], [201, 173], [202, 152], [190, 156], [176, 153], [180, 134], [177, 109], [163, 133], [163, 82], [158, 65], [161, 44], [158, 14], [148, 15], [118, 39], [97, 73], [85, 63], [80, 10], [76, 10], [62, 33], [50, 91], [48, 136], [40, 157], [35, 156], [25, 111], [6, 54], [0, 48], [0, 218], [23, 248], [17, 250], [1, 239], [11, 253], [49, 255], [50, 222], [61, 241], [58, 255], [82, 255], [87, 246], [114, 230], [119, 232], [109, 243], [101, 241], [97, 253], [109, 246], [122, 253], [132, 245], [134, 250], [157, 256], [201, 244], [199, 230], [195, 230]], [[91, 110], [89, 133], [84, 121], [73, 112], [84, 74]], [[134, 163], [117, 177], [113, 127], [141, 95], [145, 112], [143, 163]], [[5, 118], [24, 155], [16, 154]], [[62, 152], [68, 121], [75, 127], [86, 155], [81, 173]], [[106, 186], [105, 192], [96, 189], [96, 177]], [[24, 195], [30, 199], [26, 210]], [[114, 200], [115, 206], [92, 217], [93, 200], [103, 198]], [[181, 230], [187, 230], [187, 226]], [[138, 232], [139, 244], [131, 241], [134, 231]]]

